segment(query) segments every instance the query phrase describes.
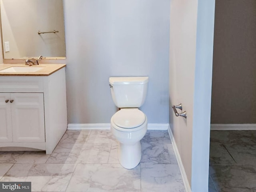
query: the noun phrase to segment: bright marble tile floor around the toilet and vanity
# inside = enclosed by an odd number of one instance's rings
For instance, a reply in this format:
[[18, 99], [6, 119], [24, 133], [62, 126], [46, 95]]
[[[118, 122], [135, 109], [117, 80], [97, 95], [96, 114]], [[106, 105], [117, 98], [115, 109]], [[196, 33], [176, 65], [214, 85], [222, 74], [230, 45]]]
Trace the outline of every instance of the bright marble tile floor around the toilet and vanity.
[[33, 192], [185, 192], [166, 130], [148, 130], [142, 159], [127, 170], [110, 130], [67, 130], [51, 155], [0, 152], [0, 181], [32, 182]]

